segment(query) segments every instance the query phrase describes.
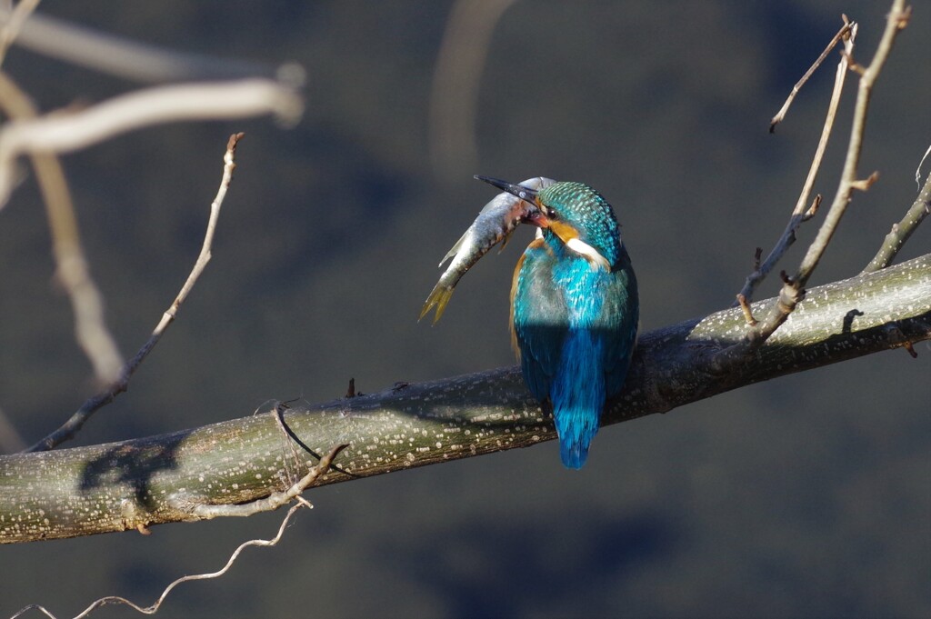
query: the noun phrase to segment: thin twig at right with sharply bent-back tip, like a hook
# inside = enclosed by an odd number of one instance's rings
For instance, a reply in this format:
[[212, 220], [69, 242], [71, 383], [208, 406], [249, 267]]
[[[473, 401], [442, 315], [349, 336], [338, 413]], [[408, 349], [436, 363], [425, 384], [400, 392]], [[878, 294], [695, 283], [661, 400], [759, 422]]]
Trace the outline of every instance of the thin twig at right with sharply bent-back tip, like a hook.
[[[857, 23], [856, 22], [846, 22], [846, 16], [844, 16], [844, 25], [835, 37], [831, 41], [824, 53], [821, 54], [821, 57], [812, 65], [812, 68], [808, 70], [808, 73], [802, 78], [802, 81], [799, 84], [796, 84], [795, 88], [792, 89], [793, 94], [789, 95], [789, 101], [786, 101], [786, 104], [783, 106], [783, 109], [780, 111], [780, 114], [784, 115], [784, 112], [789, 109], [789, 102], [795, 96], [796, 88], [801, 87], [805, 80], [808, 79], [808, 76], [813, 72], [817, 66], [824, 60], [825, 54], [836, 45], [839, 38], [843, 37], [843, 47], [845, 52], [853, 52], [854, 41], [857, 38]], [[815, 186], [815, 180], [817, 178], [818, 170], [821, 168], [821, 161], [824, 159], [824, 152], [828, 147], [828, 139], [830, 138], [830, 132], [834, 128], [834, 119], [837, 116], [837, 106], [841, 101], [841, 94], [843, 93], [843, 82], [847, 74], [847, 55], [844, 54], [841, 56], [841, 61], [837, 64], [837, 72], [834, 75], [834, 88], [830, 94], [830, 103], [828, 104], [828, 114], [824, 120], [824, 127], [821, 128], [821, 138], [818, 140], [817, 148], [815, 149], [815, 156], [812, 159], [812, 165], [808, 168], [808, 176], [805, 178], [805, 182], [802, 187], [802, 193], [799, 195], [799, 199], [795, 202], [795, 208], [792, 209], [792, 214], [789, 216], [789, 223], [786, 224], [786, 229], [783, 230], [782, 235], [779, 236], [779, 240], [776, 241], [776, 245], [773, 247], [772, 251], [769, 252], [769, 255], [766, 256], [766, 259], [760, 264], [759, 267], [754, 269], [753, 273], [747, 276], [746, 281], [744, 282], [744, 287], [740, 289], [741, 295], [745, 299], [750, 300], [753, 298], [753, 293], [756, 291], [757, 287], [762, 283], [762, 280], [766, 278], [776, 267], [776, 264], [782, 259], [789, 247], [795, 242], [795, 231], [799, 229], [799, 226], [803, 222], [807, 222], [814, 215], [815, 211], [818, 208], [818, 205], [821, 203], [821, 196], [817, 195], [815, 201], [812, 203], [811, 207], [807, 210], [805, 205], [808, 204], [809, 196], [811, 195], [812, 187]], [[780, 114], [776, 114], [776, 117], [781, 120]], [[778, 122], [774, 118], [775, 122]], [[773, 128], [770, 127], [772, 131]]]

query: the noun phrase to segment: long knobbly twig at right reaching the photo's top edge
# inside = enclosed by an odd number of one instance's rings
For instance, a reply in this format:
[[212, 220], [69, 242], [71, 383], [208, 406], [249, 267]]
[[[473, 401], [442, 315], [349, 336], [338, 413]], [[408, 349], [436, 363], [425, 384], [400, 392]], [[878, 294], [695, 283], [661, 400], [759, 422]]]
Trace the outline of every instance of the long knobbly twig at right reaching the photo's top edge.
[[853, 199], [854, 191], [857, 189], [865, 190], [869, 188], [872, 182], [875, 182], [876, 173], [871, 174], [868, 179], [857, 179], [857, 164], [859, 163], [863, 144], [867, 112], [870, 109], [870, 96], [876, 78], [882, 71], [889, 52], [892, 50], [896, 36], [908, 24], [910, 16], [911, 10], [905, 7], [905, 0], [893, 1], [876, 54], [873, 56], [870, 66], [864, 70], [862, 77], [860, 77], [859, 87], [857, 88], [857, 102], [854, 108], [853, 127], [850, 130], [850, 141], [847, 144], [847, 155], [844, 158], [841, 182], [831, 202], [828, 215], [821, 224], [815, 240], [808, 247], [798, 271], [794, 276], [787, 276], [784, 279], [782, 289], [779, 290], [779, 296], [776, 303], [773, 303], [769, 316], [766, 316], [756, 327], [750, 328], [741, 342], [725, 348], [712, 357], [710, 364], [712, 370], [724, 371], [733, 368], [735, 363], [740, 362], [748, 354], [758, 349], [786, 321], [789, 314], [795, 310], [796, 305], [804, 299], [805, 285], [815, 272], [817, 263], [821, 260], [821, 256], [824, 255], [825, 249], [828, 248], [830, 239], [837, 230], [847, 205]]

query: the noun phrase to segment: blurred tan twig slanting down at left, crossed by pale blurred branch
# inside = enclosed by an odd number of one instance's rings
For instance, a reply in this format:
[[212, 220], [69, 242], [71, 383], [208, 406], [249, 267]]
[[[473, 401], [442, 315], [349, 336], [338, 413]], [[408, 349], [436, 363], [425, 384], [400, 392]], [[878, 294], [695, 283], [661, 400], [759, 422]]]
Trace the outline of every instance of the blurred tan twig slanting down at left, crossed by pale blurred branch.
[[[2, 72], [0, 107], [10, 118], [22, 119], [14, 122], [33, 122], [37, 116], [33, 103]], [[6, 130], [3, 129], [4, 132]], [[90, 359], [97, 381], [109, 384], [119, 378], [123, 356], [103, 319], [103, 297], [90, 276], [84, 249], [81, 248], [81, 235], [64, 171], [58, 158], [50, 152], [34, 151], [30, 159], [46, 205], [52, 249], [58, 267], [56, 276], [74, 308], [74, 335]]]

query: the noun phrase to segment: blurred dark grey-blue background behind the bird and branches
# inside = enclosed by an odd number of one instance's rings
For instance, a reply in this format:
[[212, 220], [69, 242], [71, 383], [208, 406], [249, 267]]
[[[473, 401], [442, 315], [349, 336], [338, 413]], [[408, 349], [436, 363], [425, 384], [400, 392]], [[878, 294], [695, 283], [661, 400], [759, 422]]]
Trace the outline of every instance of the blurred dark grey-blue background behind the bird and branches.
[[[438, 325], [416, 320], [437, 262], [493, 195], [477, 173], [600, 190], [624, 225], [643, 330], [728, 306], [795, 203], [837, 54], [775, 135], [771, 116], [842, 12], [860, 23], [867, 63], [889, 6], [519, 0], [497, 9], [487, 47], [466, 29], [460, 52], [478, 56], [461, 62], [481, 73], [459, 96], [456, 79], [440, 74], [438, 87], [436, 76], [440, 49], [452, 53], [450, 2], [47, 0], [47, 15], [101, 31], [307, 74], [295, 128], [150, 128], [63, 157], [109, 324], [131, 356], [196, 258], [227, 137], [247, 134], [213, 261], [128, 393], [74, 444], [246, 416], [269, 398], [329, 400], [350, 377], [368, 392], [513, 364], [507, 295], [530, 230], [466, 276]], [[870, 108], [860, 172], [880, 182], [855, 196], [813, 285], [856, 275], [917, 194], [929, 32], [931, 10], [916, 3]], [[43, 111], [136, 87], [17, 47], [5, 70]], [[829, 199], [855, 93], [851, 78], [816, 183]], [[926, 228], [899, 260], [929, 251]], [[93, 389], [49, 242], [30, 176], [0, 211], [0, 408], [28, 443]], [[931, 346], [917, 350], [614, 425], [581, 472], [546, 443], [311, 491], [317, 508], [281, 545], [180, 586], [162, 612], [931, 615]], [[149, 604], [174, 578], [271, 537], [281, 516], [4, 546], [0, 615], [36, 602], [71, 616], [112, 594]]]

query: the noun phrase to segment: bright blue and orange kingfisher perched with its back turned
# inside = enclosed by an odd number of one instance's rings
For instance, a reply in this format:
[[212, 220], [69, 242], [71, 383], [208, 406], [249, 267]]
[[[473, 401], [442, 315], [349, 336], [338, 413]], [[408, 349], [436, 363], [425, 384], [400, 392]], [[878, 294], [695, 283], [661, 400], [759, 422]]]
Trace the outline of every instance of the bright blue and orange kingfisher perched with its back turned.
[[511, 343], [530, 392], [552, 407], [560, 458], [579, 469], [637, 341], [637, 278], [614, 209], [582, 182], [535, 190], [477, 176], [533, 204], [538, 230], [511, 285]]

